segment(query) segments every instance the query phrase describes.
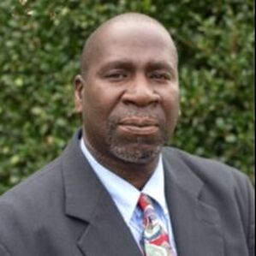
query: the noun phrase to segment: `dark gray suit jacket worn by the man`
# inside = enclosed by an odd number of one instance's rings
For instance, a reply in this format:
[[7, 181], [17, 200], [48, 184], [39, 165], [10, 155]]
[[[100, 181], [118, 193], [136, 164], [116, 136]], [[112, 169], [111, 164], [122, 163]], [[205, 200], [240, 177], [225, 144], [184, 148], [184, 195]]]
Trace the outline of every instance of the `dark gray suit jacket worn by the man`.
[[[163, 156], [179, 256], [253, 256], [253, 188], [246, 176], [173, 148]], [[0, 255], [141, 256], [80, 151], [78, 134], [59, 158], [0, 198]]]

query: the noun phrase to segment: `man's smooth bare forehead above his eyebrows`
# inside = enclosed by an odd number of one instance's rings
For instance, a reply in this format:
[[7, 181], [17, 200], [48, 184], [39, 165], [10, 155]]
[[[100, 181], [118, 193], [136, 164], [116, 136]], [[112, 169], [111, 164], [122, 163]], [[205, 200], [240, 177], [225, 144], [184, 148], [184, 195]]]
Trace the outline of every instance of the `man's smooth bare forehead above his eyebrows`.
[[104, 28], [94, 44], [91, 68], [113, 61], [136, 64], [168, 63], [176, 68], [176, 48], [170, 35], [156, 24], [119, 22]]

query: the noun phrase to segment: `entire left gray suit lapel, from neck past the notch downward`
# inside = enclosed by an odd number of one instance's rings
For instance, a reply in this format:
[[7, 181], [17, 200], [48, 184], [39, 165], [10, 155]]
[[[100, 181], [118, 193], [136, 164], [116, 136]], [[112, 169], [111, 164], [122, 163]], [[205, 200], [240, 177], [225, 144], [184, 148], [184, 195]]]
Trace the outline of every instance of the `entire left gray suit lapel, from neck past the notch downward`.
[[[86, 256], [141, 256], [115, 203], [79, 148], [77, 134], [63, 152], [66, 214], [82, 220], [77, 244]], [[77, 232], [79, 233], [79, 232]]]

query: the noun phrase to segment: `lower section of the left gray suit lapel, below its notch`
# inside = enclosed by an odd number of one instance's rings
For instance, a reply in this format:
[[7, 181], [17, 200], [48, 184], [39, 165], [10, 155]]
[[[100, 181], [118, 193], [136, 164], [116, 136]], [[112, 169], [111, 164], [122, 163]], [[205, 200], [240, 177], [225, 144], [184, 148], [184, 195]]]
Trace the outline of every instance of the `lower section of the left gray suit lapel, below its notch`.
[[141, 256], [116, 205], [109, 201], [109, 195], [102, 194], [90, 224], [80, 238], [80, 249], [86, 256]]

